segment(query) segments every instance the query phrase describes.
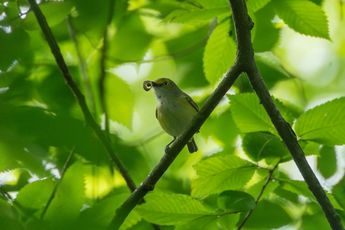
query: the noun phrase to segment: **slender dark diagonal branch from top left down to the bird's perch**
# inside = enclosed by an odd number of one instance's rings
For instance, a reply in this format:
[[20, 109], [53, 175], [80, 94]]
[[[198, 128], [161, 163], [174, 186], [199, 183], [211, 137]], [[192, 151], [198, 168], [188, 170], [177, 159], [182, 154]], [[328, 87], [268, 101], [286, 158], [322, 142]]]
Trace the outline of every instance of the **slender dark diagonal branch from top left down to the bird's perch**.
[[109, 142], [107, 136], [105, 133], [101, 130], [101, 128], [98, 126], [97, 122], [93, 119], [92, 114], [90, 110], [87, 107], [85, 96], [82, 94], [82, 92], [79, 90], [77, 83], [73, 80], [65, 60], [63, 60], [62, 54], [60, 52], [60, 48], [58, 44], [56, 43], [55, 38], [53, 37], [53, 34], [51, 33], [51, 30], [48, 26], [48, 23], [46, 21], [46, 18], [43, 16], [36, 0], [28, 0], [30, 7], [32, 11], [34, 12], [37, 21], [41, 27], [41, 30], [43, 34], [45, 35], [47, 42], [49, 44], [49, 47], [51, 49], [52, 54], [55, 57], [55, 60], [62, 72], [63, 78], [65, 78], [66, 84], [72, 91], [73, 95], [78, 100], [79, 106], [81, 108], [81, 111], [85, 117], [85, 123], [92, 127], [93, 131], [96, 133], [98, 139], [101, 141], [103, 146], [106, 148], [110, 160], [113, 162], [115, 168], [121, 173], [122, 177], [124, 177], [128, 188], [130, 191], [134, 191], [136, 189], [136, 186], [131, 179], [127, 168], [122, 163], [121, 159], [117, 155], [117, 153], [114, 151], [114, 149], [111, 146], [111, 143]]

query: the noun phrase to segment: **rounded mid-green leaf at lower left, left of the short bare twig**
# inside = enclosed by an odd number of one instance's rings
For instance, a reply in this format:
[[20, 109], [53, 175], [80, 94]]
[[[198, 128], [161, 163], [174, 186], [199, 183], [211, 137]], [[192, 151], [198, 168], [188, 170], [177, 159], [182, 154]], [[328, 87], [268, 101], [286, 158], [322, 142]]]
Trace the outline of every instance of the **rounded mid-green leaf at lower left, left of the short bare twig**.
[[53, 189], [54, 183], [51, 179], [34, 181], [19, 191], [16, 202], [35, 212], [45, 206]]

